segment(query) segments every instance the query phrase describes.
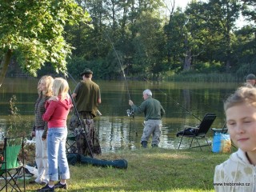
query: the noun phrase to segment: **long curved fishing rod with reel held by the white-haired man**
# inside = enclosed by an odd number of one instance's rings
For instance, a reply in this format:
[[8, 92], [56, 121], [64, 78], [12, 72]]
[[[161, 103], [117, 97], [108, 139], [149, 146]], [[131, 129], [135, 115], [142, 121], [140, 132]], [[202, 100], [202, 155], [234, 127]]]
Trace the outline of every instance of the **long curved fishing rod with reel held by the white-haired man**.
[[[109, 36], [108, 34], [106, 34], [106, 37], [109, 39], [110, 44], [111, 44], [111, 46], [112, 46], [112, 48], [113, 48], [113, 50], [114, 50], [114, 53], [115, 53], [115, 55], [116, 55], [117, 58], [118, 58], [118, 64], [119, 64], [119, 66], [120, 66], [120, 68], [121, 68], [121, 70], [122, 70], [123, 78], [125, 79], [126, 90], [127, 90], [127, 93], [128, 93], [128, 97], [129, 97], [129, 100], [131, 100], [131, 99], [130, 99], [130, 91], [129, 91], [129, 88], [128, 88], [128, 82], [127, 82], [127, 80], [126, 80], [126, 74], [125, 74], [125, 71], [123, 70], [123, 65], [122, 65], [122, 63], [121, 63], [121, 60], [120, 60], [120, 58], [118, 57], [118, 52], [117, 52], [117, 50], [115, 50], [115, 48], [114, 48], [114, 43], [111, 42], [110, 36]], [[133, 117], [133, 119], [134, 119], [134, 127], [135, 127], [135, 134], [136, 134], [136, 137], [138, 137], [137, 126], [136, 126], [136, 124], [135, 124], [135, 118], [134, 118], [134, 110], [132, 110], [132, 109], [131, 109], [131, 110], [126, 110], [126, 113], [127, 113], [128, 117], [130, 117], [130, 116]]]

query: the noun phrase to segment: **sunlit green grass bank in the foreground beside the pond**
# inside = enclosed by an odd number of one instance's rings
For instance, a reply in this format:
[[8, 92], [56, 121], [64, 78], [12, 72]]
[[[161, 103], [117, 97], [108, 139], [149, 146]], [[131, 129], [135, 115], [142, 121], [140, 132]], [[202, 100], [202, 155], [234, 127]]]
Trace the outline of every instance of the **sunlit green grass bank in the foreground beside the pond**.
[[[149, 148], [102, 154], [100, 159], [125, 158], [126, 170], [76, 164], [70, 166], [68, 191], [214, 191], [214, 167], [230, 154]], [[27, 191], [38, 189], [26, 185]], [[62, 191], [62, 190], [56, 190]]]

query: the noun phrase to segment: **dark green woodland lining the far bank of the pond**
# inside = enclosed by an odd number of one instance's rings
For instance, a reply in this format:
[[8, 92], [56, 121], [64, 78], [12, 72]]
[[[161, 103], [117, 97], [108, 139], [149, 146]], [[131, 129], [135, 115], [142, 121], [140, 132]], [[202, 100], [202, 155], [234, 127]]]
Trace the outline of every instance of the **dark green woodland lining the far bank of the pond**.
[[[256, 73], [256, 1], [190, 1], [185, 10], [161, 0], [78, 1], [94, 28], [66, 26], [76, 76], [85, 66], [98, 78], [162, 78], [188, 71]], [[237, 26], [239, 18], [250, 22]], [[193, 72], [193, 73], [194, 73]]]

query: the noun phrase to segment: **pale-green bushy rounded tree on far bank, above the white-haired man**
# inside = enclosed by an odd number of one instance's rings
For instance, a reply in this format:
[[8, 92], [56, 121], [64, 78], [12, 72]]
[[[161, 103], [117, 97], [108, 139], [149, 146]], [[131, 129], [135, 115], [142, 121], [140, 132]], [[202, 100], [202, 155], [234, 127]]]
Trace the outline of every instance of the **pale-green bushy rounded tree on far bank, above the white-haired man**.
[[147, 74], [158, 74], [162, 70], [164, 39], [162, 23], [155, 12], [143, 12], [134, 24], [134, 59], [132, 67]]

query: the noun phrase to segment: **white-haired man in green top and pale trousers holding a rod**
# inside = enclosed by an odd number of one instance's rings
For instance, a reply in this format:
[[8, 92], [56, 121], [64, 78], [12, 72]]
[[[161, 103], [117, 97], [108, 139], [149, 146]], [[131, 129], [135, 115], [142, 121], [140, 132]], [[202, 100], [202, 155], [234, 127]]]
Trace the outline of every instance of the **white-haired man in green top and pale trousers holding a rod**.
[[139, 114], [144, 112], [145, 115], [145, 126], [141, 144], [146, 148], [147, 141], [149, 140], [150, 135], [153, 134], [151, 146], [158, 147], [162, 130], [162, 116], [165, 114], [165, 110], [157, 99], [152, 98], [151, 90], [143, 91], [143, 99], [144, 102], [142, 102], [141, 106], [135, 106], [134, 102], [129, 100], [129, 105], [132, 110], [134, 110], [134, 113]]

